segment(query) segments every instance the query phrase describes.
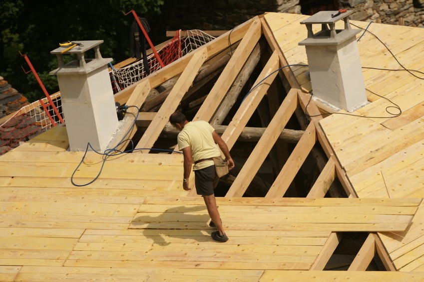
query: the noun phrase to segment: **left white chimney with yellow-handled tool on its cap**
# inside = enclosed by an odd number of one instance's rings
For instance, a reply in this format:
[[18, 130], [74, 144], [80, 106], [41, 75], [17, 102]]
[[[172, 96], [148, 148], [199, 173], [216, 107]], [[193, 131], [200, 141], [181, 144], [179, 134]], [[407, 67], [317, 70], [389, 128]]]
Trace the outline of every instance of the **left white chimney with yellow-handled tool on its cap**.
[[[50, 75], [57, 76], [70, 150], [85, 150], [89, 142], [103, 152], [119, 124], [107, 69], [112, 59], [101, 57], [103, 40], [72, 43], [76, 46], [65, 52], [67, 47], [50, 52], [58, 60], [59, 67]], [[85, 59], [89, 50], [94, 51], [93, 59]], [[63, 55], [68, 54], [73, 55], [73, 61], [64, 64]]]

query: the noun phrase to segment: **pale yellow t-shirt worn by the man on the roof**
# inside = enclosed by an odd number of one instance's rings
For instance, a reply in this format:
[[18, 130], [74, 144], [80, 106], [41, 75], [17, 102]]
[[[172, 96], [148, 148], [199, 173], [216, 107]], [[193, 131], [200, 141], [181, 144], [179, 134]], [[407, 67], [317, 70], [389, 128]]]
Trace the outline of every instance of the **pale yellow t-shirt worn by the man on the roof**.
[[[178, 147], [182, 150], [190, 146], [193, 163], [204, 158], [220, 156], [221, 152], [212, 137], [214, 128], [205, 121], [187, 123], [178, 134]], [[194, 165], [193, 170], [213, 165], [213, 160], [206, 160]]]

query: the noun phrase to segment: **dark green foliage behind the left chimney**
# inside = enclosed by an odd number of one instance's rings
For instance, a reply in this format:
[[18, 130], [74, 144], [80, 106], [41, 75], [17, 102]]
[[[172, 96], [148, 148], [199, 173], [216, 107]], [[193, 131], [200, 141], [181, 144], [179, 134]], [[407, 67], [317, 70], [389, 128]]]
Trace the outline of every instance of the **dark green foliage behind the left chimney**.
[[48, 73], [57, 68], [50, 51], [59, 42], [72, 40], [103, 40], [100, 52], [114, 62], [129, 57], [129, 31], [134, 10], [149, 23], [160, 13], [163, 0], [3, 0], [0, 3], [0, 75], [29, 101], [44, 97], [20, 56], [26, 54], [47, 92], [58, 91], [55, 76]]

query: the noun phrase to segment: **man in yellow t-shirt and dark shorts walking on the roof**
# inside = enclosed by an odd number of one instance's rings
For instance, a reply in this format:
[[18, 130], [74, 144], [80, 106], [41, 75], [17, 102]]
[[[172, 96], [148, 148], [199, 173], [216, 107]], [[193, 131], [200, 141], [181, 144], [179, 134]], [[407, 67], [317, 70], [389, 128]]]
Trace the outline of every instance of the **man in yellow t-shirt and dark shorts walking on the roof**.
[[184, 155], [183, 188], [186, 191], [191, 189], [188, 179], [194, 162], [196, 192], [198, 195], [202, 195], [205, 201], [211, 217], [209, 226], [218, 229], [212, 232], [212, 239], [218, 242], [226, 242], [228, 237], [225, 234], [216, 206], [214, 188], [218, 184], [219, 177], [212, 158], [220, 156], [219, 149], [221, 149], [228, 160], [228, 169], [231, 170], [234, 167], [234, 161], [231, 158], [228, 146], [208, 122], [188, 122], [185, 115], [179, 112], [173, 113], [169, 117], [169, 122], [180, 131], [177, 141], [178, 147]]

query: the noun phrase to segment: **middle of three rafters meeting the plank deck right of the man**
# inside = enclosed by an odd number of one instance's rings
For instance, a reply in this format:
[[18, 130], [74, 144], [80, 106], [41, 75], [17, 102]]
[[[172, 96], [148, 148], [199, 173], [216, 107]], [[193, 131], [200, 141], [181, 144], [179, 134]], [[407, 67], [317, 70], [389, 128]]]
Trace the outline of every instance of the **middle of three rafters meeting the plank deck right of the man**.
[[317, 140], [315, 125], [309, 124], [265, 197], [283, 197]]

